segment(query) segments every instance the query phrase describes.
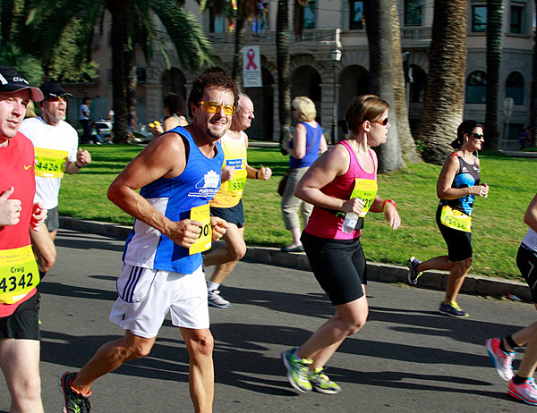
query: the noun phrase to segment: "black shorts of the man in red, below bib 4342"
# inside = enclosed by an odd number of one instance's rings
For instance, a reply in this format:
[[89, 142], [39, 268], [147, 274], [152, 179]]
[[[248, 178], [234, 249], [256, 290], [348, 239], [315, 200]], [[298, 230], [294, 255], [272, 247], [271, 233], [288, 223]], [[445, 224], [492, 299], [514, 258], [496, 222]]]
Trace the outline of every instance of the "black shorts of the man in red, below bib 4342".
[[0, 318], [0, 339], [39, 340], [38, 291], [24, 301], [11, 316]]

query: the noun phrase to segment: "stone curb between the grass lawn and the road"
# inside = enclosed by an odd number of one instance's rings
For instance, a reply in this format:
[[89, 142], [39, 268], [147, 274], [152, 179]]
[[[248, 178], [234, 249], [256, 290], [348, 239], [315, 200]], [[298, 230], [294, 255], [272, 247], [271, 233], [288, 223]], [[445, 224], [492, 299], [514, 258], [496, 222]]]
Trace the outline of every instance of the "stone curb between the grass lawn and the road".
[[[99, 223], [81, 219], [60, 216], [60, 227], [66, 230], [91, 232], [120, 239], [126, 239], [130, 226], [116, 225], [114, 223]], [[216, 245], [222, 244], [219, 241]], [[286, 266], [295, 269], [310, 270], [306, 255], [301, 253], [286, 253], [280, 249], [270, 247], [248, 246], [246, 261], [267, 265]], [[513, 258], [514, 259], [514, 258]], [[368, 279], [379, 282], [407, 282], [408, 268], [405, 266], [388, 265], [368, 262]], [[420, 277], [419, 286], [445, 290], [447, 272], [428, 271]], [[505, 279], [468, 274], [461, 289], [463, 292], [482, 296], [505, 297], [507, 294], [516, 295], [519, 299], [532, 301], [532, 293], [525, 282], [509, 281]]]

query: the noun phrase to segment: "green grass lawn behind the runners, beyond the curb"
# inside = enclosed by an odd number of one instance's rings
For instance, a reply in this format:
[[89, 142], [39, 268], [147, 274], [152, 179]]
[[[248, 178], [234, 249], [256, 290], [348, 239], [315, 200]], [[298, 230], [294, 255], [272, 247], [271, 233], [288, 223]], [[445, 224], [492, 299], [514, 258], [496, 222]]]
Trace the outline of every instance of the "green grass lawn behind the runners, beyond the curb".
[[[132, 218], [107, 200], [107, 188], [124, 165], [142, 149], [135, 145], [82, 146], [93, 163], [81, 173], [66, 175], [60, 191], [60, 215], [95, 221], [132, 224]], [[473, 215], [472, 274], [516, 278], [516, 250], [527, 227], [526, 207], [537, 191], [537, 159], [519, 159], [500, 153], [482, 154], [482, 181], [489, 198], [477, 198]], [[288, 156], [277, 148], [251, 148], [253, 167], [272, 168], [270, 181], [248, 180], [244, 191], [246, 230], [250, 245], [282, 247], [292, 238], [280, 212], [277, 183], [287, 170]], [[412, 164], [379, 176], [379, 196], [396, 200], [402, 225], [392, 231], [382, 214], [369, 214], [362, 232], [366, 257], [371, 261], [405, 265], [408, 257], [428, 259], [447, 253], [434, 215], [438, 205], [436, 181], [440, 166]]]

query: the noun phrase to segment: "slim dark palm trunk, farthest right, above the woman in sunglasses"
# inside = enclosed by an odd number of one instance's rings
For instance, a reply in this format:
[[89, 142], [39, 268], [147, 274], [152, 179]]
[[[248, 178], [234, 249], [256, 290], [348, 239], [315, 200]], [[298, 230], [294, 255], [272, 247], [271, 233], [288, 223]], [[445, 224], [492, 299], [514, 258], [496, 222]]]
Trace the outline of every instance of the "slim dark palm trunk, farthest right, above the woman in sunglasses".
[[[485, 147], [498, 147], [499, 65], [502, 49], [503, 0], [487, 1], [487, 112]], [[507, 138], [507, 137], [504, 137]]]

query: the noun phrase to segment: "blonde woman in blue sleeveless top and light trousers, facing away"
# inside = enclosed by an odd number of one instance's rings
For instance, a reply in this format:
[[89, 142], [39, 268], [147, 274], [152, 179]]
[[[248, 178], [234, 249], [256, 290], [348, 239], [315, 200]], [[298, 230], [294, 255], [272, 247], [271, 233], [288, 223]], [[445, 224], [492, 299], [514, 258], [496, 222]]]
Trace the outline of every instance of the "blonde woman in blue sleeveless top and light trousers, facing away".
[[304, 226], [308, 223], [313, 206], [294, 196], [294, 188], [303, 174], [328, 148], [320, 124], [315, 122], [317, 110], [309, 97], [295, 97], [292, 103], [294, 117], [299, 123], [294, 128], [293, 139], [284, 143], [283, 148], [290, 155], [286, 187], [282, 198], [282, 214], [286, 230], [293, 235], [293, 243], [282, 249], [284, 252], [303, 251], [300, 240], [301, 226], [298, 211], [300, 210]]

